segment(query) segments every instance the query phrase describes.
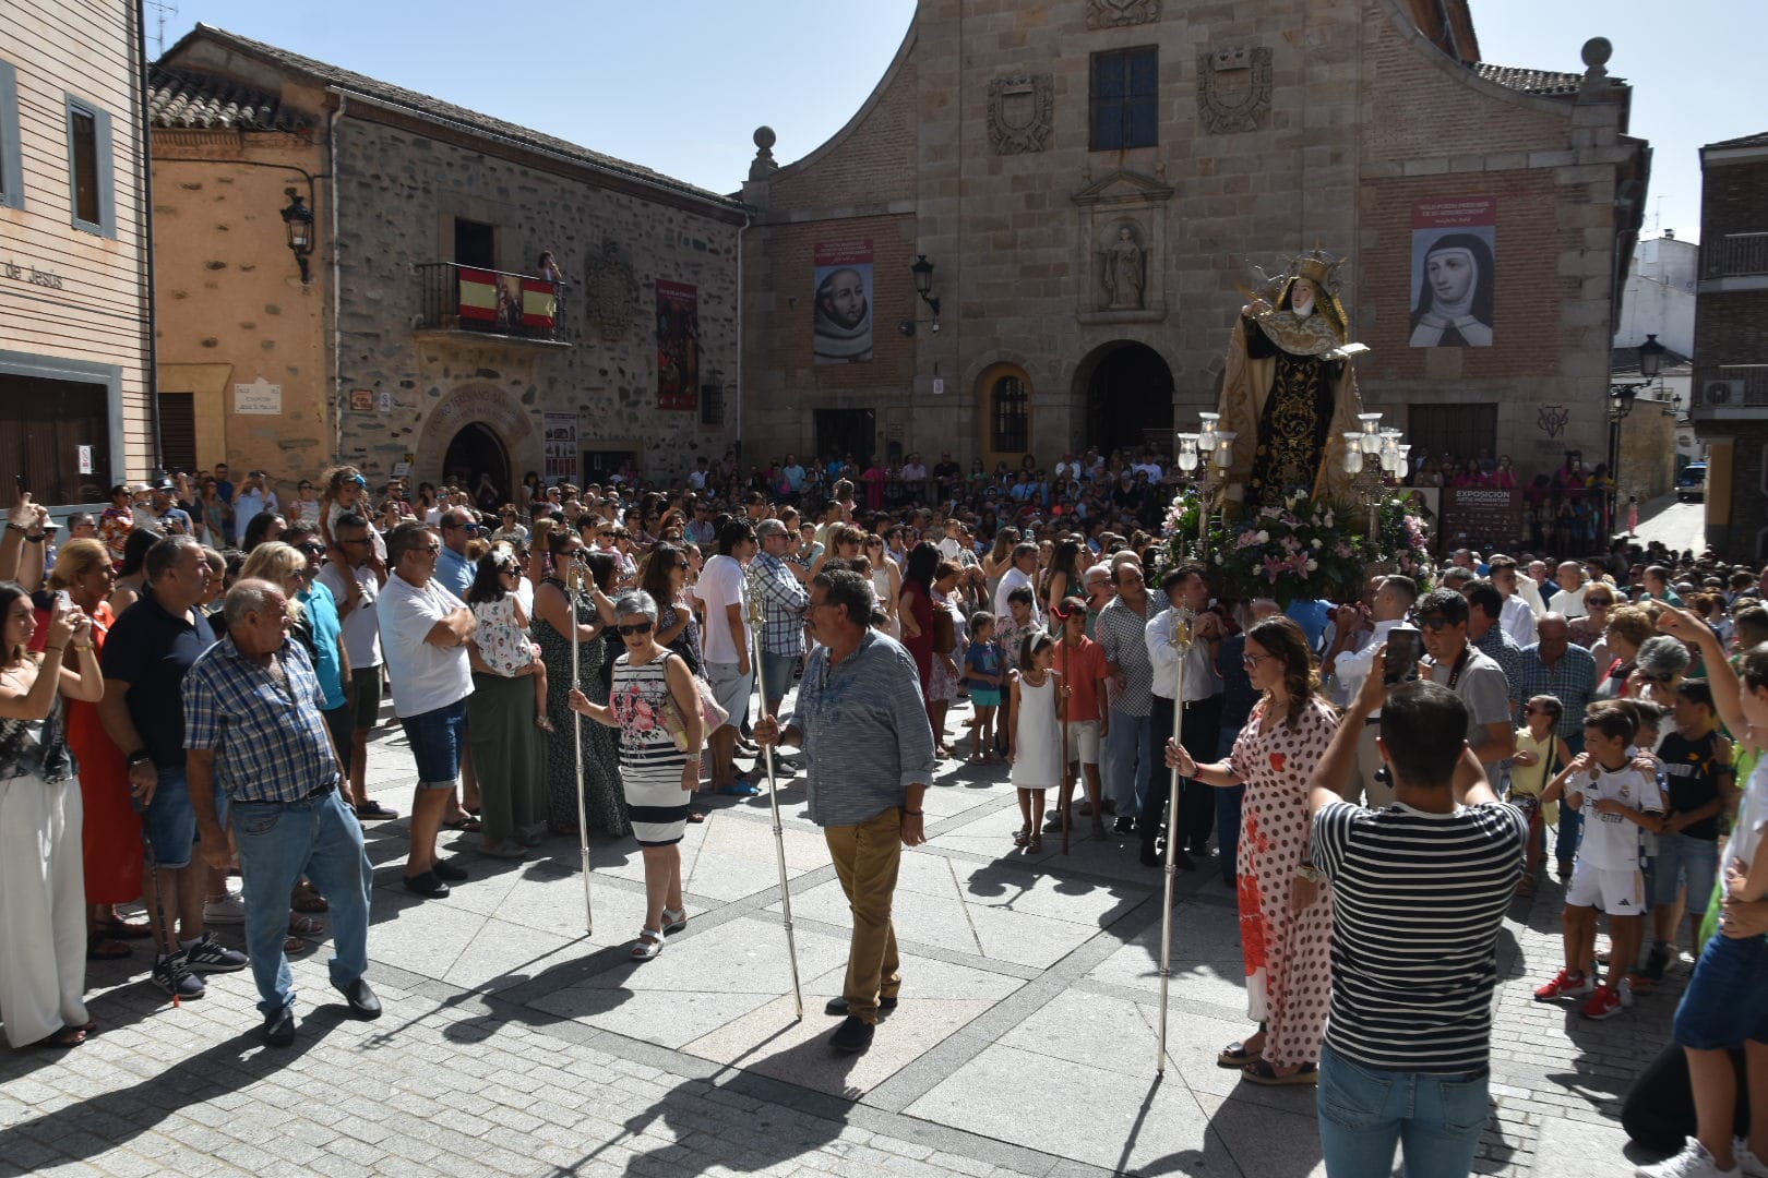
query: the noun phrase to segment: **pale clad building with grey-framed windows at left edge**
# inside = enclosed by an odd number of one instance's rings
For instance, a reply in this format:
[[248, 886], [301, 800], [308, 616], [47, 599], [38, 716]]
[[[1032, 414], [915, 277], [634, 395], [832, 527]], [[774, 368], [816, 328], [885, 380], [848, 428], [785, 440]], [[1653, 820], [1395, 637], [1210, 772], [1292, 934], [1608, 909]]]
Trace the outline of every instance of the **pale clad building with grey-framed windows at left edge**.
[[157, 463], [141, 46], [133, 0], [0, 16], [0, 472], [57, 507]]

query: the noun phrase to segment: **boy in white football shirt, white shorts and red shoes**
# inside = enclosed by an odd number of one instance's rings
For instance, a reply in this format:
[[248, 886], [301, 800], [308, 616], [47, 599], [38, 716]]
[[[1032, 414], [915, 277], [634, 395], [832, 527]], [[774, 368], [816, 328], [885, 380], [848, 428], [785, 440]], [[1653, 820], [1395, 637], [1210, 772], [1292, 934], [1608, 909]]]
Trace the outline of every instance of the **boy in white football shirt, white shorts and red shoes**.
[[[1565, 888], [1565, 968], [1535, 991], [1535, 1001], [1589, 994], [1582, 1014], [1609, 1019], [1623, 1010], [1618, 978], [1639, 959], [1644, 940], [1646, 888], [1639, 871], [1639, 830], [1657, 830], [1664, 793], [1657, 775], [1634, 766], [1630, 747], [1637, 724], [1630, 710], [1605, 703], [1584, 717], [1584, 752], [1572, 759], [1543, 802], [1565, 795], [1581, 811], [1584, 839]], [[1597, 911], [1609, 913], [1609, 978], [1597, 985], [1584, 973], [1597, 952]], [[1625, 982], [1623, 982], [1625, 984]]]

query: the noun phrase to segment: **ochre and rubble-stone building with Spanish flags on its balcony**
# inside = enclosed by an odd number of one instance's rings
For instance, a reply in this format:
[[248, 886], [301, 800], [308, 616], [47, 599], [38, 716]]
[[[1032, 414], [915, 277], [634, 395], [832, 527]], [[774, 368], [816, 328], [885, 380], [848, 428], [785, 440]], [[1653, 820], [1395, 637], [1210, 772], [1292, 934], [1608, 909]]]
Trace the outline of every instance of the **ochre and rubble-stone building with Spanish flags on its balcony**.
[[734, 440], [737, 201], [207, 25], [154, 106], [159, 362], [203, 464], [507, 496]]

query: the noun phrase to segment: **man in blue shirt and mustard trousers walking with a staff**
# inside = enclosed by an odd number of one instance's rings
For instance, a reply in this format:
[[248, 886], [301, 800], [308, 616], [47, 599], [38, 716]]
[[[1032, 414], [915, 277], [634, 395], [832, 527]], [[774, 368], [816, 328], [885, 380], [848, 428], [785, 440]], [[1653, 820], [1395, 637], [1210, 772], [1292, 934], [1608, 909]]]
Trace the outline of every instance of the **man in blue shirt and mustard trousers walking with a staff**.
[[847, 1016], [829, 1044], [850, 1054], [872, 1046], [879, 1010], [893, 1010], [902, 987], [891, 899], [902, 848], [926, 842], [921, 797], [934, 781], [934, 729], [914, 659], [868, 623], [872, 586], [863, 576], [819, 572], [808, 616], [819, 646], [792, 719], [781, 729], [764, 717], [755, 742], [804, 749], [810, 821], [822, 827], [854, 913], [847, 982], [827, 1005]]

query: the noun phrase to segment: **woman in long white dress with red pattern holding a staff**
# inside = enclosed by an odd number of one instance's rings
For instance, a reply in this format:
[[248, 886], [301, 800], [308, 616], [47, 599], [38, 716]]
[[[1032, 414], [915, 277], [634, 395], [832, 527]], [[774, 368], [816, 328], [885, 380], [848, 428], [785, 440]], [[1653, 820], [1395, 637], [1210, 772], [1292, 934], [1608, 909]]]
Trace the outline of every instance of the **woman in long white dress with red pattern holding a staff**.
[[1246, 675], [1264, 692], [1225, 761], [1197, 765], [1167, 744], [1167, 765], [1211, 786], [1246, 786], [1239, 827], [1239, 940], [1246, 1005], [1259, 1031], [1218, 1056], [1255, 1084], [1319, 1079], [1331, 996], [1331, 902], [1308, 851], [1308, 777], [1338, 719], [1319, 696], [1301, 627], [1266, 618], [1246, 631]]

